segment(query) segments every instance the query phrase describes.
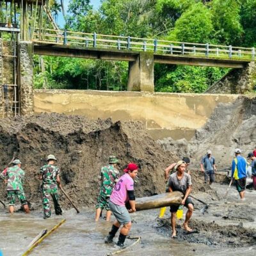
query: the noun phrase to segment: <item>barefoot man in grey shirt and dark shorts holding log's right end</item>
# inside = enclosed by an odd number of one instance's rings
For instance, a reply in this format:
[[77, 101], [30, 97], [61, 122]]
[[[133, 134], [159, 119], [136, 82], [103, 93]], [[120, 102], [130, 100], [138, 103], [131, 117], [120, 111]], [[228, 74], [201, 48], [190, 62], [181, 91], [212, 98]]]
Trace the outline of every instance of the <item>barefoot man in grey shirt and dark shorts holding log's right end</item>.
[[[180, 191], [183, 193], [184, 198], [181, 202], [182, 205], [185, 205], [188, 208], [186, 213], [186, 218], [183, 224], [184, 229], [187, 232], [193, 232], [191, 228], [188, 227], [188, 222], [193, 214], [194, 204], [191, 198], [189, 198], [189, 193], [191, 192], [191, 176], [185, 172], [186, 170], [186, 162], [179, 161], [175, 166], [177, 172], [172, 173], [170, 175], [170, 179], [168, 181], [169, 192]], [[172, 224], [172, 238], [176, 238], [176, 217], [177, 211], [179, 209], [179, 205], [171, 205], [171, 224]]]

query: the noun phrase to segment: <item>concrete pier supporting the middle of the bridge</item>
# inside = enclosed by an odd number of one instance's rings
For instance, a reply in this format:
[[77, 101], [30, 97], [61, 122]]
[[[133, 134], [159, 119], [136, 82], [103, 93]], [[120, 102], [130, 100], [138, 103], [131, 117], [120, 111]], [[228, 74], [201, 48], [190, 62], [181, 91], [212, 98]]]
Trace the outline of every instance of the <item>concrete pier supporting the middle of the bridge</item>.
[[129, 62], [128, 91], [154, 92], [154, 54], [140, 52], [136, 61]]

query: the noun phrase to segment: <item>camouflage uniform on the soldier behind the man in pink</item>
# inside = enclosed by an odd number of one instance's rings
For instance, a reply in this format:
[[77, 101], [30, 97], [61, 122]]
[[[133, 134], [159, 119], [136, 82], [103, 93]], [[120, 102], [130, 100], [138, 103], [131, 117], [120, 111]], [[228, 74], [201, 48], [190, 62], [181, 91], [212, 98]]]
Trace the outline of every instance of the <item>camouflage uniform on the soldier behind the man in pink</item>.
[[115, 186], [116, 180], [120, 177], [119, 171], [116, 168], [109, 164], [108, 166], [104, 166], [100, 170], [100, 193], [97, 199], [97, 208], [106, 209], [106, 211], [110, 211], [109, 208], [109, 198], [112, 193], [112, 190]]

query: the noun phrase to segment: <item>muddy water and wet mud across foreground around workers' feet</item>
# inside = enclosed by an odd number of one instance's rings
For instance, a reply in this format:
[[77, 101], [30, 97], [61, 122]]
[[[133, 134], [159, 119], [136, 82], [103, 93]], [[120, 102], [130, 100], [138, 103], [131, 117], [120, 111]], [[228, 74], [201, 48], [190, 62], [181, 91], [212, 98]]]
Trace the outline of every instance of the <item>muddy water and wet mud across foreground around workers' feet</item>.
[[[209, 189], [208, 186], [207, 188]], [[130, 235], [140, 236], [141, 241], [120, 255], [255, 255], [256, 224], [253, 212], [256, 210], [256, 191], [247, 190], [246, 201], [240, 202], [233, 187], [230, 188], [227, 200], [223, 200], [226, 189], [227, 185], [214, 184], [209, 189], [210, 193], [207, 191], [194, 194], [209, 204], [208, 213], [202, 215], [200, 209], [203, 205], [194, 200], [195, 211], [190, 224], [199, 233], [186, 234], [181, 228], [185, 217], [183, 215], [183, 220], [177, 221], [177, 239], [171, 238], [168, 209], [163, 219], [158, 218], [159, 209], [131, 214]], [[217, 195], [220, 200], [216, 200], [211, 194]], [[60, 252], [65, 256], [96, 256], [119, 250], [115, 244], [104, 244], [104, 236], [111, 228], [111, 222], [104, 220], [105, 212], [103, 218], [95, 223], [92, 207], [83, 207], [80, 210], [80, 214], [76, 214], [74, 209], [64, 211], [63, 216], [52, 214], [52, 218], [45, 221], [40, 211], [32, 211], [29, 215], [15, 212], [10, 216], [0, 207], [1, 234], [5, 237], [0, 240], [0, 248], [4, 256], [22, 255], [26, 246], [42, 229], [54, 227], [63, 218], [66, 222], [37, 246], [31, 253], [32, 256], [60, 255]], [[113, 216], [111, 220], [114, 220]], [[127, 239], [125, 245], [129, 246], [133, 242]]]

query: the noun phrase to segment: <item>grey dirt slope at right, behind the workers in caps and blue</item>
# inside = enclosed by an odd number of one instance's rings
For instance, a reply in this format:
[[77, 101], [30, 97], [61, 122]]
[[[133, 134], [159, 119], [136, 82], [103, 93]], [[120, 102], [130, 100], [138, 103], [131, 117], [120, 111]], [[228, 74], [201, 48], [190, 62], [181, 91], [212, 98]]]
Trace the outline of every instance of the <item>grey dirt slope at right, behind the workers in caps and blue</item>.
[[178, 156], [190, 156], [195, 166], [208, 149], [216, 157], [219, 169], [230, 167], [234, 149], [241, 148], [244, 157], [256, 146], [256, 97], [239, 97], [235, 102], [219, 104], [202, 129], [190, 140], [159, 140], [164, 150]]

